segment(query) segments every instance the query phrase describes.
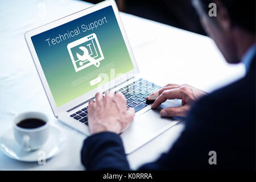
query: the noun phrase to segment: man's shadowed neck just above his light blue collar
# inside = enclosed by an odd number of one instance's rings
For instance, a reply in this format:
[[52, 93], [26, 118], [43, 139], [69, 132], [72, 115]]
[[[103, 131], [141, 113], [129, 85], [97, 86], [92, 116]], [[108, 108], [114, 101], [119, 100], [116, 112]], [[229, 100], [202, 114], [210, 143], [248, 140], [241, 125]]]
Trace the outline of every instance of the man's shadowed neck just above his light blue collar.
[[245, 52], [255, 43], [255, 34], [237, 28], [234, 32], [234, 43], [237, 47], [237, 56], [241, 60]]

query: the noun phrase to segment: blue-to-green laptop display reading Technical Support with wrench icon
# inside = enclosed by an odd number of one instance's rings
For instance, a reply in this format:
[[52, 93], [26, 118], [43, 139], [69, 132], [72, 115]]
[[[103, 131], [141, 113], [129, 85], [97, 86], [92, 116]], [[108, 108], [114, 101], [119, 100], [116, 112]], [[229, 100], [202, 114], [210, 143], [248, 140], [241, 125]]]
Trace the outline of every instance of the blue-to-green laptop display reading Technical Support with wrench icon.
[[57, 107], [134, 69], [112, 6], [31, 40]]

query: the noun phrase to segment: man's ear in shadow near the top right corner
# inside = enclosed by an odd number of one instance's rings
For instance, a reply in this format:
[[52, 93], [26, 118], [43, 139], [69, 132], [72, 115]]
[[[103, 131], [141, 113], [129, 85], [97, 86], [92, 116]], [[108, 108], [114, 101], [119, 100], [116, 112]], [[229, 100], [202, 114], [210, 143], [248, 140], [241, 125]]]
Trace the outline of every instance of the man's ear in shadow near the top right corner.
[[230, 20], [228, 11], [226, 7], [220, 2], [216, 1], [217, 5], [217, 22], [218, 25], [224, 30], [225, 32], [229, 32], [232, 29], [232, 22]]

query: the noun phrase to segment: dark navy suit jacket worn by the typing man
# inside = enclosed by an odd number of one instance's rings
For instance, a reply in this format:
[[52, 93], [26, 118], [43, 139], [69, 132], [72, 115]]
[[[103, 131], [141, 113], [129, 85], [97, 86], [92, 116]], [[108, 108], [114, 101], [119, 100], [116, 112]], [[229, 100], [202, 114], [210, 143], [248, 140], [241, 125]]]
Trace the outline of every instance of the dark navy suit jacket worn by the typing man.
[[[209, 151], [216, 151], [216, 165], [209, 164]], [[130, 169], [121, 138], [110, 132], [85, 139], [81, 160], [88, 170]], [[245, 77], [193, 106], [167, 154], [139, 169], [255, 170], [255, 57]]]

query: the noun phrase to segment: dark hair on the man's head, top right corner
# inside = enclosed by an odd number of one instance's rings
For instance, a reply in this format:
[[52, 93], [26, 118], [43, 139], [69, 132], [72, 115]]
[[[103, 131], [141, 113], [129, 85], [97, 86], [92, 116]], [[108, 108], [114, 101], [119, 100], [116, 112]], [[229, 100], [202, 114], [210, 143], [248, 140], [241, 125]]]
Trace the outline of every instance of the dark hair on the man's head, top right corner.
[[[209, 3], [216, 0], [199, 0], [203, 10], [208, 14]], [[255, 34], [255, 0], [218, 0], [228, 11], [231, 22], [246, 31]], [[218, 7], [217, 7], [218, 12]], [[217, 13], [218, 16], [218, 13]]]

